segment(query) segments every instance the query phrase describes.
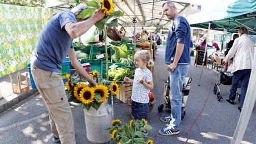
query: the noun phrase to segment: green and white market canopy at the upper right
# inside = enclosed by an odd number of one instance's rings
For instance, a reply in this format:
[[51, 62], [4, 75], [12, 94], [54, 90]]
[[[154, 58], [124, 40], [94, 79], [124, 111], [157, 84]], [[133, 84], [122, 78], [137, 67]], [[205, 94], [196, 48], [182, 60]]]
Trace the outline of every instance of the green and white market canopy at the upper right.
[[195, 13], [187, 18], [191, 27], [237, 33], [239, 27], [247, 27], [249, 34], [256, 34], [256, 1], [237, 0], [221, 3], [218, 8]]

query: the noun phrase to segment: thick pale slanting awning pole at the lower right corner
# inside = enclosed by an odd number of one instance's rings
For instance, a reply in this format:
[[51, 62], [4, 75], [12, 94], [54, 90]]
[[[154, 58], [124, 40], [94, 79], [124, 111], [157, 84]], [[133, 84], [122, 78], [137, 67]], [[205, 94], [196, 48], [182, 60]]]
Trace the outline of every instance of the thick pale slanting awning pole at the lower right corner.
[[231, 141], [232, 144], [240, 144], [242, 138], [244, 137], [244, 132], [247, 129], [248, 122], [250, 120], [250, 116], [252, 115], [253, 107], [255, 104], [256, 99], [256, 54], [254, 53], [254, 60], [253, 60], [253, 68], [250, 73], [250, 80], [247, 88], [247, 93], [245, 96], [243, 109], [240, 114], [237, 128], [235, 128], [234, 136]]

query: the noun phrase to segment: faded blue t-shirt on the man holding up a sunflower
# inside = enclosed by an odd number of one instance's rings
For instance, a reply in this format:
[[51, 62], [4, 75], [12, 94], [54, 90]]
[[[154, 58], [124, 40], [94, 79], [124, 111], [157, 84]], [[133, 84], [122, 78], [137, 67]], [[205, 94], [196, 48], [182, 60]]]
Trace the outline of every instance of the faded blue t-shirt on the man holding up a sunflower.
[[70, 22], [76, 23], [71, 11], [57, 13], [50, 19], [40, 34], [31, 64], [42, 70], [61, 73], [61, 63], [73, 48], [73, 39], [64, 28]]

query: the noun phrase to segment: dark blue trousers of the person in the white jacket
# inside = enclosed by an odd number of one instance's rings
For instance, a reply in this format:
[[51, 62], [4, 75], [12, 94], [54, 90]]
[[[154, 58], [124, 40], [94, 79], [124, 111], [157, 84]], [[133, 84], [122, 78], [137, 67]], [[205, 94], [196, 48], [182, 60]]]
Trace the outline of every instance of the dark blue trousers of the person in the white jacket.
[[241, 80], [241, 97], [240, 97], [240, 107], [243, 107], [245, 95], [247, 92], [250, 71], [252, 69], [243, 69], [235, 71], [232, 77], [232, 86], [230, 89], [229, 100], [235, 100], [235, 95], [237, 94], [238, 82]]

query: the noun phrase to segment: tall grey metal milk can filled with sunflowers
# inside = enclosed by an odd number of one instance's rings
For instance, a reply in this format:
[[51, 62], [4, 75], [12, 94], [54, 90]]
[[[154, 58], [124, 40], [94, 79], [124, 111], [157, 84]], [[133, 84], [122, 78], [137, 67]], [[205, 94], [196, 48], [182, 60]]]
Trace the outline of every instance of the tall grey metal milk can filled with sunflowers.
[[119, 86], [100, 78], [97, 71], [92, 71], [90, 76], [98, 85], [92, 86], [85, 79], [78, 78], [78, 73], [67, 74], [66, 88], [70, 95], [68, 101], [81, 104], [85, 114], [86, 136], [94, 143], [110, 141], [111, 136], [106, 130], [112, 120], [112, 107], [107, 103], [107, 98], [119, 93]]

